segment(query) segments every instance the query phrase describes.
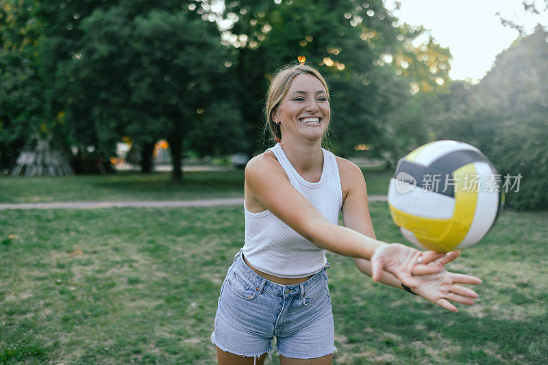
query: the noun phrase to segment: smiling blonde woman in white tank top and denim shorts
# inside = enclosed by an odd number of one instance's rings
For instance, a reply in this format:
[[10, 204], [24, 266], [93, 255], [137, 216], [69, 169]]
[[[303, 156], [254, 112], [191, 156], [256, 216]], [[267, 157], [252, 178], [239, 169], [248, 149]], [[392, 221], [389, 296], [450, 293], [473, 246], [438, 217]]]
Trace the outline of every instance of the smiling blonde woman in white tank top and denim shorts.
[[[310, 66], [273, 77], [266, 120], [278, 142], [245, 169], [245, 244], [221, 288], [212, 342], [219, 364], [262, 364], [276, 338], [282, 365], [331, 364], [334, 322], [326, 250], [351, 256], [375, 281], [448, 310], [479, 284], [445, 271], [458, 252], [420, 252], [375, 239], [362, 172], [321, 148], [329, 89]], [[345, 226], [338, 226], [342, 211]]]

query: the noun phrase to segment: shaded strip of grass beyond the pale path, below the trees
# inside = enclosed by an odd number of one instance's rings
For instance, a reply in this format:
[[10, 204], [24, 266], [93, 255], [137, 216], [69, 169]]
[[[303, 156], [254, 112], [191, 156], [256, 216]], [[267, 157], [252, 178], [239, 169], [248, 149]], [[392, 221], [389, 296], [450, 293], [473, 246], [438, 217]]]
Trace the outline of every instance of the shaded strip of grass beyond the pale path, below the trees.
[[[364, 170], [369, 194], [386, 194], [391, 172]], [[107, 176], [0, 177], [1, 203], [195, 200], [243, 196], [244, 172], [185, 172], [175, 184], [169, 172], [120, 172]]]

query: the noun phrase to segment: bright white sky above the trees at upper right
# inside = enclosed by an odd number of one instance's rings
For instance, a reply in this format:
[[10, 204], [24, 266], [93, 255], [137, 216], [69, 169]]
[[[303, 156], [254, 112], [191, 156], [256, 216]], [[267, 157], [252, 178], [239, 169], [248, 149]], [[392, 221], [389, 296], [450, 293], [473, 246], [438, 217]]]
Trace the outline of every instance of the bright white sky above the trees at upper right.
[[[532, 0], [529, 0], [532, 1]], [[402, 23], [423, 25], [444, 47], [449, 46], [453, 61], [449, 77], [453, 80], [478, 81], [493, 67], [495, 56], [507, 49], [519, 36], [504, 27], [498, 16], [523, 25], [531, 33], [537, 23], [548, 25], [548, 10], [540, 15], [526, 14], [522, 0], [400, 0], [400, 10], [393, 10], [393, 0], [386, 8]], [[544, 10], [543, 0], [536, 0]]]

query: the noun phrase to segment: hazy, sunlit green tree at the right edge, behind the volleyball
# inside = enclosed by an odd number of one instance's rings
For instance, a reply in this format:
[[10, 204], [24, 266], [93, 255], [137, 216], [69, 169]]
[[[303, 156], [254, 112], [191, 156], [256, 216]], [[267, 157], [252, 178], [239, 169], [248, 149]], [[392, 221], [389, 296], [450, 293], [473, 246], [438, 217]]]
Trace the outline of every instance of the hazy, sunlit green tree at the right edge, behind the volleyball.
[[[495, 66], [448, 108], [442, 137], [476, 146], [508, 174], [508, 206], [548, 208], [548, 32], [538, 27], [497, 55]], [[462, 95], [462, 93], [460, 93]], [[453, 94], [456, 95], [456, 94]]]

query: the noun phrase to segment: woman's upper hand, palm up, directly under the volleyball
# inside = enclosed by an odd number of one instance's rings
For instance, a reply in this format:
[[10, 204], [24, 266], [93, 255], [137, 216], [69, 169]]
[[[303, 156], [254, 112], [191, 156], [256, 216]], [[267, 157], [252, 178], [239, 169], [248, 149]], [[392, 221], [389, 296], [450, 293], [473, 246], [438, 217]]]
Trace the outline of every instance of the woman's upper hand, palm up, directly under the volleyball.
[[[414, 288], [421, 284], [413, 275], [427, 275], [443, 270], [436, 260], [446, 256], [441, 252], [421, 252], [401, 243], [385, 243], [375, 249], [371, 257], [371, 277], [378, 282], [382, 271], [393, 273], [403, 284]], [[430, 264], [430, 265], [428, 265]]]

